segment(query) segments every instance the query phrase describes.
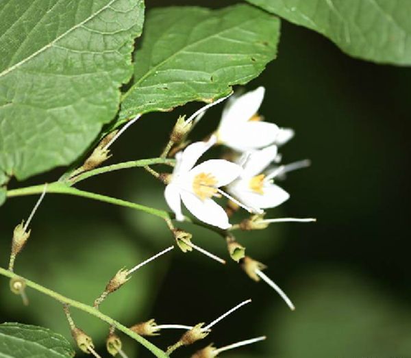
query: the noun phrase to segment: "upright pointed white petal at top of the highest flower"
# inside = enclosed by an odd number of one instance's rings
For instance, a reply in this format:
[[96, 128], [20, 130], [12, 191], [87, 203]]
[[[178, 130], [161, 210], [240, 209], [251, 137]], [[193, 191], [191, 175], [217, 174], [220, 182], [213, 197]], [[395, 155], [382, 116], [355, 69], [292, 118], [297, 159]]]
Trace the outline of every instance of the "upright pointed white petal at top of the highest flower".
[[238, 97], [229, 99], [221, 116], [220, 128], [231, 129], [235, 125], [247, 122], [258, 112], [262, 99], [264, 99], [264, 87], [247, 92]]

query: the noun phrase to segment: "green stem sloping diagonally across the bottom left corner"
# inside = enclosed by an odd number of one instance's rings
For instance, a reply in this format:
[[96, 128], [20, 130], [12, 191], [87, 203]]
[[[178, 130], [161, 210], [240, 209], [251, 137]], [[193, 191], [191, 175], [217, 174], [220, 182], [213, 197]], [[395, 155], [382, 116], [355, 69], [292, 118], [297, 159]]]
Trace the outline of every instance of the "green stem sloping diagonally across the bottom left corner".
[[147, 341], [145, 338], [141, 337], [137, 333], [131, 331], [127, 327], [125, 327], [123, 324], [117, 322], [116, 320], [113, 320], [109, 316], [106, 316], [105, 314], [102, 314], [98, 309], [95, 309], [94, 307], [91, 307], [89, 305], [85, 305], [84, 303], [77, 302], [75, 300], [72, 300], [71, 298], [67, 298], [65, 296], [62, 296], [61, 294], [58, 294], [57, 292], [54, 292], [53, 290], [50, 290], [47, 287], [43, 287], [42, 285], [39, 285], [38, 283], [35, 283], [33, 281], [30, 281], [28, 279], [25, 279], [24, 277], [18, 276], [18, 274], [15, 274], [14, 272], [11, 272], [9, 270], [5, 270], [5, 268], [0, 267], [0, 274], [9, 277], [10, 279], [15, 279], [15, 278], [20, 278], [23, 279], [27, 285], [27, 287], [31, 287], [32, 289], [41, 292], [42, 294], [45, 294], [47, 296], [50, 296], [51, 298], [54, 298], [57, 301], [60, 301], [61, 303], [65, 303], [67, 305], [70, 305], [71, 307], [75, 307], [81, 311], [84, 311], [91, 316], [95, 316], [99, 318], [100, 320], [116, 327], [119, 331], [122, 331], [129, 337], [132, 337], [134, 340], [136, 340], [138, 343], [142, 344], [147, 348], [148, 350], [155, 355], [155, 357], [158, 358], [168, 358], [169, 356], [166, 355], [160, 348], [154, 346], [151, 342]]

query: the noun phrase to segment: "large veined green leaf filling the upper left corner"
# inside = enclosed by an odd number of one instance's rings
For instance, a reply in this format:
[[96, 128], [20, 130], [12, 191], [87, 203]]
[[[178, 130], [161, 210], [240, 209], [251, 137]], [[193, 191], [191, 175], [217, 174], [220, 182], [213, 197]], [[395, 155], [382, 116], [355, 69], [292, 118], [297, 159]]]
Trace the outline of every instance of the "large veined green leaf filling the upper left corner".
[[0, 170], [70, 164], [116, 114], [142, 0], [0, 3]]

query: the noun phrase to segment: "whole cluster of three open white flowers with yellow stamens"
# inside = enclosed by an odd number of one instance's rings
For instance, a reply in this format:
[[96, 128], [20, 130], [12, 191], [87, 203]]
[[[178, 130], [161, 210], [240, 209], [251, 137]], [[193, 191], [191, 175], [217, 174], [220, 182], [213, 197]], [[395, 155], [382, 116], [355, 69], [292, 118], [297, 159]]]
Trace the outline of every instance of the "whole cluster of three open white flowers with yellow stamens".
[[[288, 142], [294, 131], [264, 122], [258, 114], [263, 98], [263, 87], [233, 95], [212, 136], [206, 142], [188, 145], [175, 155], [175, 168], [167, 181], [164, 196], [177, 220], [184, 220], [182, 201], [202, 222], [229, 229], [232, 226], [229, 216], [214, 198], [225, 196], [250, 213], [263, 214], [264, 209], [276, 207], [290, 197], [274, 183], [274, 179], [286, 171], [286, 166], [279, 166], [278, 147]], [[186, 120], [185, 125], [191, 125], [190, 121], [191, 118]], [[196, 165], [199, 158], [216, 144], [232, 149], [234, 160], [210, 159]]]

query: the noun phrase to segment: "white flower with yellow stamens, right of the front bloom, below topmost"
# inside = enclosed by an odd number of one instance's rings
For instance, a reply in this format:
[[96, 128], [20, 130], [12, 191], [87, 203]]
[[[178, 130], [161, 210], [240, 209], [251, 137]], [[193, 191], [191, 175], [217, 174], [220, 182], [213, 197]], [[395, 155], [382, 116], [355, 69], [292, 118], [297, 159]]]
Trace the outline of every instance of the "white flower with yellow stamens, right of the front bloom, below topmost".
[[276, 156], [275, 145], [247, 155], [247, 159], [242, 159], [244, 164], [240, 177], [227, 186], [227, 191], [241, 203], [251, 207], [253, 212], [261, 213], [262, 209], [276, 207], [290, 197], [285, 190], [273, 183], [271, 174], [262, 174]]

